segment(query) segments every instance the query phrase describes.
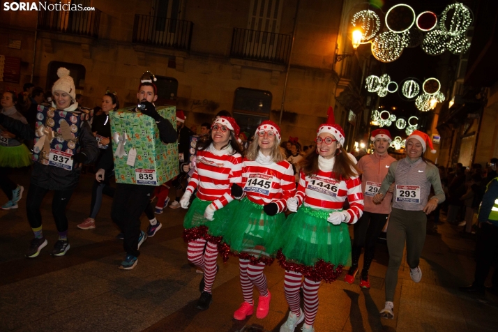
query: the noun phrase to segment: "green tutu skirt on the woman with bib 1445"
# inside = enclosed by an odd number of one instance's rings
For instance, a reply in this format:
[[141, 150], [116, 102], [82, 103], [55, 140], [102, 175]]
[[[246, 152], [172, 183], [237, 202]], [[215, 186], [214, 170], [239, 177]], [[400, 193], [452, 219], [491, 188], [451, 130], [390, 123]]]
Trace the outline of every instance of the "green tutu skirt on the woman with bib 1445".
[[246, 197], [242, 199], [234, 215], [236, 218], [223, 235], [226, 246], [220, 248], [225, 262], [228, 258], [226, 254], [231, 251], [232, 255], [250, 259], [253, 263], [273, 263], [278, 248], [269, 251], [268, 245], [280, 232], [285, 222], [284, 213], [268, 216], [262, 205], [253, 203]]

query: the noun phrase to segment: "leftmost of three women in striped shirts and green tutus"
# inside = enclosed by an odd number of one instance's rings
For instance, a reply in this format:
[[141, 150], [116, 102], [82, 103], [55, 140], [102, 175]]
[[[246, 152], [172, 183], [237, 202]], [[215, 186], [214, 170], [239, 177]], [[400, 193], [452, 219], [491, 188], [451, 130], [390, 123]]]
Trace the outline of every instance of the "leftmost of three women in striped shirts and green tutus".
[[232, 117], [215, 119], [211, 137], [199, 144], [194, 173], [180, 199], [181, 207], [187, 209], [190, 196], [197, 189], [197, 197], [183, 220], [183, 239], [188, 242], [188, 260], [204, 270], [199, 285], [201, 296], [197, 301], [197, 308], [201, 310], [209, 308], [213, 301], [211, 288], [218, 271], [218, 244], [239, 203], [230, 192], [234, 183], [242, 181], [241, 147], [236, 139], [239, 132]]

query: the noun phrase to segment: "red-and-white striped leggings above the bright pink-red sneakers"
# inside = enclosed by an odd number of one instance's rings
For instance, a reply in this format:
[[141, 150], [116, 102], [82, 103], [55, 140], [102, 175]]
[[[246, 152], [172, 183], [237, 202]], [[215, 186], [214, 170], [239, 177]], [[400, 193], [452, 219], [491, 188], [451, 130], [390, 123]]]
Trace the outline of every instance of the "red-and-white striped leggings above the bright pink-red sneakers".
[[249, 259], [239, 259], [239, 269], [244, 301], [253, 304], [252, 288], [254, 286], [259, 290], [259, 296], [268, 296], [268, 283], [263, 273], [264, 263], [254, 264]]

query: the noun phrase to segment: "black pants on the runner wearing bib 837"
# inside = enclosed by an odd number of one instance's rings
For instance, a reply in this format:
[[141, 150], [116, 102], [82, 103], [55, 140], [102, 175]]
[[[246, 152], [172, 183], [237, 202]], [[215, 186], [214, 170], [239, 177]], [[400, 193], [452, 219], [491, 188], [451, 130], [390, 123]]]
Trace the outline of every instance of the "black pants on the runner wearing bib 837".
[[[54, 216], [55, 225], [58, 232], [68, 230], [68, 218], [66, 217], [66, 206], [68, 205], [74, 189], [54, 190], [52, 199], [52, 216]], [[26, 199], [26, 212], [28, 215], [29, 225], [31, 228], [38, 228], [42, 225], [40, 206], [43, 197], [49, 192], [48, 189], [36, 186], [33, 183], [29, 185], [28, 196]]]

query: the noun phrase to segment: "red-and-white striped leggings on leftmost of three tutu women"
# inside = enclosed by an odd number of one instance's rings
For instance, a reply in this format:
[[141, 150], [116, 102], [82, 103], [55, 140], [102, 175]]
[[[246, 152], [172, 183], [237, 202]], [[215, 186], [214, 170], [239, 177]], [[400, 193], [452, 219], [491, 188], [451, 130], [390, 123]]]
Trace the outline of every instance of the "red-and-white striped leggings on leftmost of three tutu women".
[[[204, 246], [206, 245], [204, 252]], [[218, 246], [206, 241], [206, 239], [195, 239], [188, 243], [188, 261], [204, 270], [204, 291], [211, 293], [214, 278], [216, 277], [216, 258], [218, 258]]]

